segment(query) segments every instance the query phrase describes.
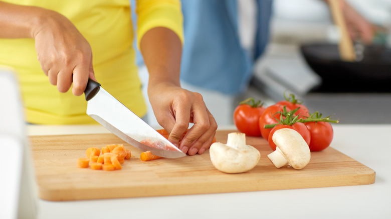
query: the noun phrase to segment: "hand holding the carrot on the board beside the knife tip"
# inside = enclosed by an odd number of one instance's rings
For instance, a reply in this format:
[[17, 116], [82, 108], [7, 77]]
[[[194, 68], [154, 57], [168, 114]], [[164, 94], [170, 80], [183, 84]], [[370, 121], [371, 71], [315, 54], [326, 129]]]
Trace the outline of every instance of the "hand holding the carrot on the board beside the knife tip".
[[[180, 140], [179, 149], [189, 155], [210, 147], [217, 123], [200, 93], [163, 82], [148, 86], [148, 94], [157, 121], [170, 133], [169, 141], [178, 145]], [[192, 127], [180, 139], [189, 123]]]

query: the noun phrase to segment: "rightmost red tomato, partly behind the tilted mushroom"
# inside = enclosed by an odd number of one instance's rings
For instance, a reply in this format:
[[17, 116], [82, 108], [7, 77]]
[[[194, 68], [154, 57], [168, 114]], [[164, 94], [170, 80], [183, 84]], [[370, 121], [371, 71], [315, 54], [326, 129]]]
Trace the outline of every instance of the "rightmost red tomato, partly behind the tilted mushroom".
[[328, 147], [333, 139], [333, 127], [326, 121], [310, 121], [304, 123], [311, 133], [309, 144], [311, 151], [320, 151]]

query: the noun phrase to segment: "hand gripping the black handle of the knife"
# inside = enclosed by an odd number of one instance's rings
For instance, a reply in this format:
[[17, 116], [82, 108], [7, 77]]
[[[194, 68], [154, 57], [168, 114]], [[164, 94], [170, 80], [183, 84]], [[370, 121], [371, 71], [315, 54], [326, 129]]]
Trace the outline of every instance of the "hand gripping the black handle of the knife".
[[50, 83], [66, 92], [73, 82], [72, 93], [83, 94], [88, 78], [95, 79], [92, 50], [73, 23], [55, 11], [47, 11], [33, 36], [38, 60]]

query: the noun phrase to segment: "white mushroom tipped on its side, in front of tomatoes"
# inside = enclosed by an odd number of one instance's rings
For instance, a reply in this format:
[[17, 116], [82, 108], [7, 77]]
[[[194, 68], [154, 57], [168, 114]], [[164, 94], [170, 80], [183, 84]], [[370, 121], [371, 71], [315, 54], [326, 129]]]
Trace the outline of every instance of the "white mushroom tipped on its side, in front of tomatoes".
[[281, 128], [274, 132], [272, 139], [277, 147], [268, 157], [277, 168], [289, 164], [295, 169], [302, 169], [310, 161], [308, 144], [296, 130]]

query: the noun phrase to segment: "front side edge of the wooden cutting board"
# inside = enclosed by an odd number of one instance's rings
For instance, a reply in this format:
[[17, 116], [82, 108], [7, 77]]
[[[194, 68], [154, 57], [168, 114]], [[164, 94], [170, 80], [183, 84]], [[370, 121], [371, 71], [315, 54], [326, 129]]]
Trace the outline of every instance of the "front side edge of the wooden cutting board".
[[[137, 190], [137, 193], [131, 193], [126, 191], [127, 188], [111, 188], [104, 194], [101, 193], [101, 189], [84, 189], [84, 190], [72, 190], [72, 189], [39, 189], [39, 197], [48, 201], [71, 201], [71, 200], [92, 200], [92, 199], [113, 199], [113, 198], [137, 198], [137, 197], [153, 197], [153, 196], [173, 196], [173, 195], [192, 195], [192, 194], [217, 194], [217, 193], [232, 193], [232, 192], [251, 192], [251, 191], [268, 191], [268, 190], [287, 190], [287, 189], [302, 189], [302, 188], [320, 188], [320, 187], [339, 187], [339, 186], [351, 186], [351, 185], [370, 185], [375, 182], [376, 173], [374, 170], [368, 167], [368, 173], [359, 174], [359, 180], [356, 180], [350, 175], [344, 177], [334, 176], [327, 177], [327, 181], [317, 180], [320, 177], [312, 178], [310, 180], [303, 180], [301, 183], [292, 184], [290, 187], [281, 188], [277, 184], [259, 183], [259, 180], [253, 180], [250, 182], [252, 186], [247, 188], [241, 187], [240, 181], [225, 183], [225, 186], [229, 186], [231, 189], [225, 189], [224, 187], [216, 185], [210, 187], [210, 189], [200, 189], [188, 191], [186, 184], [171, 184], [166, 189], [161, 189], [157, 186], [155, 188], [149, 186], [133, 187]], [[372, 171], [370, 171], [372, 170]], [[335, 179], [334, 179], [335, 178]], [[333, 181], [334, 184], [331, 184]], [[247, 182], [246, 184], [249, 184]], [[240, 188], [239, 188], [240, 187]], [[218, 189], [217, 189], [218, 188]], [[125, 189], [125, 191], [121, 190]], [[95, 190], [95, 192], [94, 192]], [[148, 190], [147, 192], [145, 192]], [[119, 192], [120, 191], [120, 192]], [[144, 192], [144, 193], [142, 193]], [[142, 193], [142, 194], [141, 194]], [[91, 195], [93, 194], [93, 195]]]

